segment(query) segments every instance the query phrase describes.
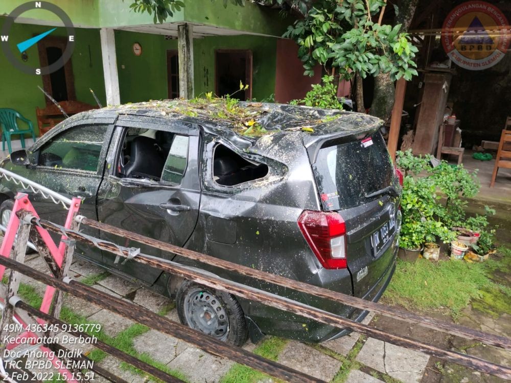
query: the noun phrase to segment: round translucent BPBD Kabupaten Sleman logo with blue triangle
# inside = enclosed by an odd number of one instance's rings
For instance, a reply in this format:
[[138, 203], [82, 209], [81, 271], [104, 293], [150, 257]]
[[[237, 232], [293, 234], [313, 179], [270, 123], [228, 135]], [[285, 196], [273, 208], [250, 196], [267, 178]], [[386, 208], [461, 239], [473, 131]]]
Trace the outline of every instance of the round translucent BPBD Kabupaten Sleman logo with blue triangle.
[[444, 21], [442, 44], [462, 68], [482, 70], [497, 64], [509, 48], [511, 31], [504, 14], [494, 5], [462, 3]]

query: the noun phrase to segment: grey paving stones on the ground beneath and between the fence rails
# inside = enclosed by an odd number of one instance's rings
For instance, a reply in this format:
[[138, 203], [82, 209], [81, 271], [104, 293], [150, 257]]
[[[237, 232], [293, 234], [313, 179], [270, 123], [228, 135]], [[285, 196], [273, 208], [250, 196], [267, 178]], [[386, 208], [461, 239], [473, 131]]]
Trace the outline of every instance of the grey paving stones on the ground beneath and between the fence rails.
[[[37, 255], [31, 256], [26, 263], [38, 270], [47, 270]], [[86, 280], [87, 277], [102, 273], [104, 273], [103, 269], [78, 258], [73, 262], [69, 276], [77, 280]], [[38, 293], [42, 294], [44, 291], [44, 286], [33, 280], [24, 278], [22, 282], [35, 286]], [[108, 275], [97, 281], [93, 287], [113, 296], [129, 299], [155, 313], [161, 314], [161, 310], [171, 307], [173, 303], [171, 300], [143, 288], [140, 284], [114, 275]], [[94, 302], [84, 302], [72, 296], [65, 297], [65, 305], [75, 313], [87, 317], [91, 322], [101, 323], [105, 333], [111, 337], [117, 336], [134, 323], [96, 306]], [[173, 321], [179, 321], [175, 308], [165, 316]], [[369, 315], [364, 323], [369, 323], [372, 318], [373, 316]], [[182, 373], [182, 376], [191, 383], [220, 382], [234, 365], [229, 360], [210, 355], [156, 330], [146, 331], [135, 337], [132, 342], [137, 353], [145, 354], [160, 365]], [[358, 354], [354, 354], [351, 351], [357, 344], [360, 351]], [[363, 344], [362, 347], [360, 347], [361, 344]], [[249, 341], [244, 348], [253, 351], [255, 346]], [[351, 360], [347, 358], [350, 353], [352, 354]], [[428, 360], [429, 356], [421, 352], [411, 351], [372, 338], [366, 339], [358, 333], [352, 333], [349, 336], [320, 345], [289, 341], [277, 358], [277, 361], [283, 365], [329, 382], [337, 381], [336, 376], [340, 370], [343, 368], [346, 370], [343, 365], [348, 366], [347, 368], [355, 366], [355, 369], [344, 371], [345, 375], [341, 380], [350, 383], [377, 383], [388, 381], [391, 378], [394, 379], [394, 382], [420, 382]], [[128, 382], [149, 381], [147, 376], [137, 375], [112, 356], [103, 358], [99, 366]], [[97, 377], [95, 382], [102, 383], [106, 380]]]

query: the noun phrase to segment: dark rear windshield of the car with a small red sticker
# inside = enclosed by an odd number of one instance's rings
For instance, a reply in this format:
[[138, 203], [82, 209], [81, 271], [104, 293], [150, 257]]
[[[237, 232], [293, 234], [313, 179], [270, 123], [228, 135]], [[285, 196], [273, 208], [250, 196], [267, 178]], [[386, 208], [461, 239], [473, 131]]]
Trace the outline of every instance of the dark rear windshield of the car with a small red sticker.
[[365, 196], [392, 185], [394, 170], [380, 132], [319, 150], [313, 165], [324, 210], [361, 205]]

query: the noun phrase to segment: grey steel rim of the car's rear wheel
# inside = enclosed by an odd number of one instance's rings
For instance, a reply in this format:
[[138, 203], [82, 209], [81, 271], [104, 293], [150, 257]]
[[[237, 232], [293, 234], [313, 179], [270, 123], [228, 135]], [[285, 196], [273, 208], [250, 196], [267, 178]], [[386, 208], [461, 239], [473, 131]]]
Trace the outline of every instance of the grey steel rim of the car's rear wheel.
[[218, 298], [210, 292], [192, 290], [184, 300], [184, 316], [190, 327], [221, 341], [227, 339], [227, 313]]

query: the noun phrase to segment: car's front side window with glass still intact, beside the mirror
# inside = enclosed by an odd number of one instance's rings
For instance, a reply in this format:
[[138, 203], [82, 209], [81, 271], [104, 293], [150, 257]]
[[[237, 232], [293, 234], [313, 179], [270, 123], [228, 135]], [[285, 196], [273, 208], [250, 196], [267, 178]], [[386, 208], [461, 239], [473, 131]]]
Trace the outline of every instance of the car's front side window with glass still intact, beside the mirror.
[[39, 165], [96, 172], [106, 126], [77, 126], [53, 137], [41, 149]]

